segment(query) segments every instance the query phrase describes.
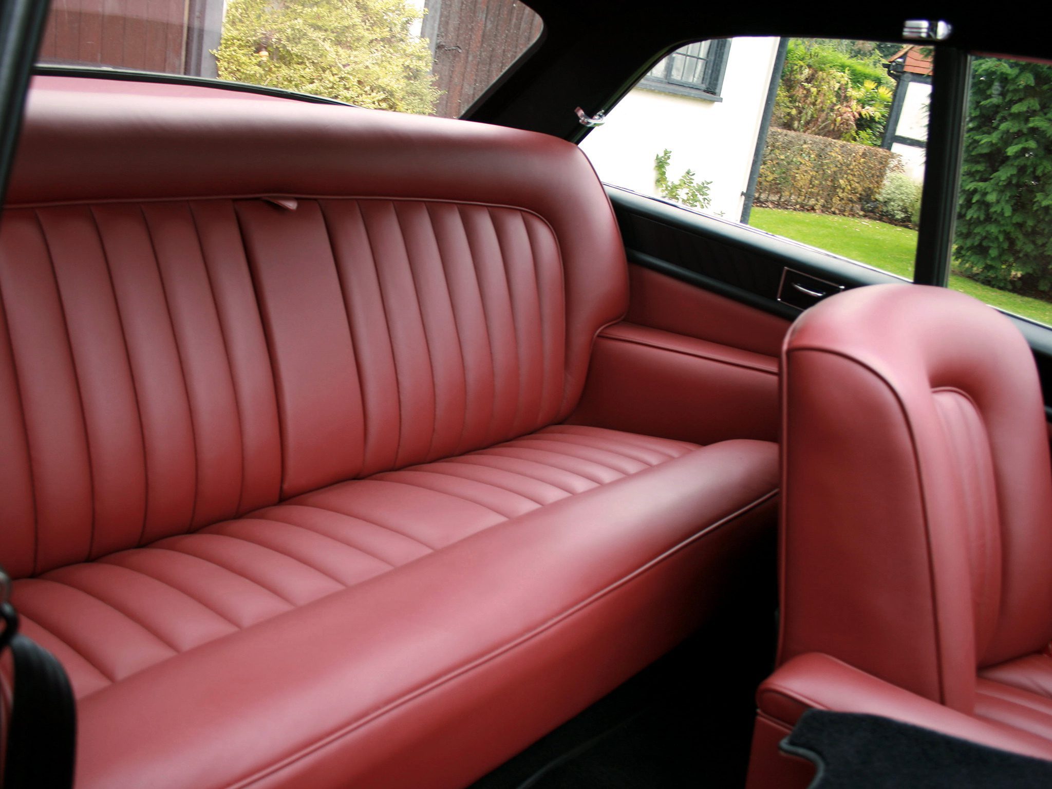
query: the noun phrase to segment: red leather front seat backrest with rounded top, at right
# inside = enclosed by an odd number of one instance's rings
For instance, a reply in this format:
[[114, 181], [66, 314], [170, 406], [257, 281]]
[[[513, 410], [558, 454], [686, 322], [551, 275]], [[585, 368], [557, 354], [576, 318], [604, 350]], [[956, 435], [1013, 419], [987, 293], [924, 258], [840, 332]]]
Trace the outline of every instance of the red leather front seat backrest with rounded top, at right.
[[852, 290], [784, 350], [781, 660], [958, 709], [1052, 638], [1052, 472], [1030, 348], [945, 288]]

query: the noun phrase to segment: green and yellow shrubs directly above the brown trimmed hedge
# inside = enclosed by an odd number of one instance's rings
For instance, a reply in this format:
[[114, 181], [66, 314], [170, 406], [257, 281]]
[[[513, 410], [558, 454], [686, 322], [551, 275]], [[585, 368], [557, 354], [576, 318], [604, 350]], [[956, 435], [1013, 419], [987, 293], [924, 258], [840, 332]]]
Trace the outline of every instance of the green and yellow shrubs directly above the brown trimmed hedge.
[[893, 80], [872, 60], [823, 41], [792, 39], [774, 99], [772, 125], [879, 145], [893, 95]]

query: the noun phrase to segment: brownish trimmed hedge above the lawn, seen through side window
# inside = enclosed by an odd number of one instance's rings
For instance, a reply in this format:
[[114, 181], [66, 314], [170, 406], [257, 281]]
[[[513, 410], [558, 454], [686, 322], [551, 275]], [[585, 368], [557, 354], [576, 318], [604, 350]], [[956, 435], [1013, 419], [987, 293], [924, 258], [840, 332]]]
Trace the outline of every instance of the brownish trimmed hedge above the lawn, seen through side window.
[[876, 196], [899, 157], [884, 148], [772, 128], [756, 180], [756, 203], [772, 208], [875, 215]]

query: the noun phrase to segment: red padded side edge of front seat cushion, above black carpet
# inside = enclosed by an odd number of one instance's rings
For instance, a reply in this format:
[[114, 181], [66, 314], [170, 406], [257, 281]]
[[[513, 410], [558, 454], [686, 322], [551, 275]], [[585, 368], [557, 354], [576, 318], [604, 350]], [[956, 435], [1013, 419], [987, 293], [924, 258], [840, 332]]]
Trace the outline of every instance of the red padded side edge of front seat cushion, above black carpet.
[[1052, 742], [1044, 737], [944, 707], [816, 652], [793, 658], [771, 674], [756, 691], [756, 704], [762, 714], [790, 728], [812, 707], [863, 712], [993, 748], [1052, 758]]

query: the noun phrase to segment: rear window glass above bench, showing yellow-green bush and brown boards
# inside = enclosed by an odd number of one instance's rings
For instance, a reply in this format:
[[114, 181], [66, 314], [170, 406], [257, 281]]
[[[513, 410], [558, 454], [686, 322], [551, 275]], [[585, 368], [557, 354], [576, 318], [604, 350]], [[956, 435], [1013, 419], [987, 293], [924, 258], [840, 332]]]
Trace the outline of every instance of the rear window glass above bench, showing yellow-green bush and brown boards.
[[457, 118], [542, 27], [518, 0], [55, 2], [38, 64], [204, 77]]

